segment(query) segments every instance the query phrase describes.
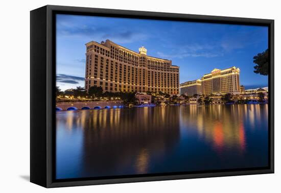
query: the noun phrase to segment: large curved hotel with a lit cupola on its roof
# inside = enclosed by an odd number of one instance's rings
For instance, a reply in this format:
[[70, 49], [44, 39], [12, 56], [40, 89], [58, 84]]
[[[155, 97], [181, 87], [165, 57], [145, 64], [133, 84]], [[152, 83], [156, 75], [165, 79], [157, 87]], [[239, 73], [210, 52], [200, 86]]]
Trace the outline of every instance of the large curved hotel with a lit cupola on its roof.
[[85, 89], [103, 91], [162, 91], [179, 94], [179, 67], [171, 60], [147, 56], [145, 47], [134, 52], [110, 40], [86, 43]]

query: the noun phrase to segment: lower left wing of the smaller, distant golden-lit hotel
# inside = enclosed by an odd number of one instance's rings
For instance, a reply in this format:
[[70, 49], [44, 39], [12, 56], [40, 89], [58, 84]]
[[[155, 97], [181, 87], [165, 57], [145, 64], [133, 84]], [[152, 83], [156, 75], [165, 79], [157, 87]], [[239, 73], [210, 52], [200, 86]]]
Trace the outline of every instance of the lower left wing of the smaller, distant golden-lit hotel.
[[193, 96], [194, 94], [202, 94], [202, 81], [200, 79], [181, 83], [180, 94], [187, 94]]

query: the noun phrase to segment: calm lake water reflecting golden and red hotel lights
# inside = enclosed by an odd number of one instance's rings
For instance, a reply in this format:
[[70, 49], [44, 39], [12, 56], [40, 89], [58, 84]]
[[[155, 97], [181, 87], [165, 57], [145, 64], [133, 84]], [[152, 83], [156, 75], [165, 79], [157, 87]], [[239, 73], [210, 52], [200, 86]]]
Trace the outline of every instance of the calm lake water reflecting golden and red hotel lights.
[[268, 165], [268, 105], [56, 112], [57, 179]]

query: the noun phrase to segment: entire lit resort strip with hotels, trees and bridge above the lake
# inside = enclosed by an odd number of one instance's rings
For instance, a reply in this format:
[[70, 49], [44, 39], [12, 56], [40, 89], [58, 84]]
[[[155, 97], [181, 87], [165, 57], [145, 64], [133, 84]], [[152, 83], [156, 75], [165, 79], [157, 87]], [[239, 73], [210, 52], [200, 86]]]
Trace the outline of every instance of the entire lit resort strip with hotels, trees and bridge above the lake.
[[143, 46], [138, 51], [110, 40], [86, 43], [85, 87], [58, 88], [56, 109], [268, 102], [268, 88], [245, 89], [235, 66], [179, 84], [179, 66], [148, 56]]

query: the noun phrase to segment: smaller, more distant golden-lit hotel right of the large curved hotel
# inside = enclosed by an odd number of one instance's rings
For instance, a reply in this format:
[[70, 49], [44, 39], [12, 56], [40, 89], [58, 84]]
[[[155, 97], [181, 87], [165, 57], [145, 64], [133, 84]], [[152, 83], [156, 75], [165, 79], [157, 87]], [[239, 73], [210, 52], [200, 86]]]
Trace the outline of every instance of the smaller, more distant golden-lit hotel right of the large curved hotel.
[[180, 84], [180, 94], [239, 94], [239, 75], [240, 69], [235, 66], [223, 70], [215, 68], [199, 80]]

